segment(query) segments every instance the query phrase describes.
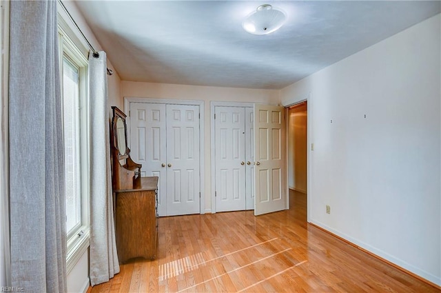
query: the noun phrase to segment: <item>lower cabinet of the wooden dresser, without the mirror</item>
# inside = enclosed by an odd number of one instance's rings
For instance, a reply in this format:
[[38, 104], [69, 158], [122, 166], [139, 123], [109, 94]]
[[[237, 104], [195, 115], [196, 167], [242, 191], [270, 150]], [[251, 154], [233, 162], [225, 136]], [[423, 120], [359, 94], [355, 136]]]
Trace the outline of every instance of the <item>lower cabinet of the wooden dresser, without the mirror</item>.
[[141, 188], [115, 190], [116, 249], [121, 263], [155, 259], [158, 249], [158, 177], [142, 177]]

